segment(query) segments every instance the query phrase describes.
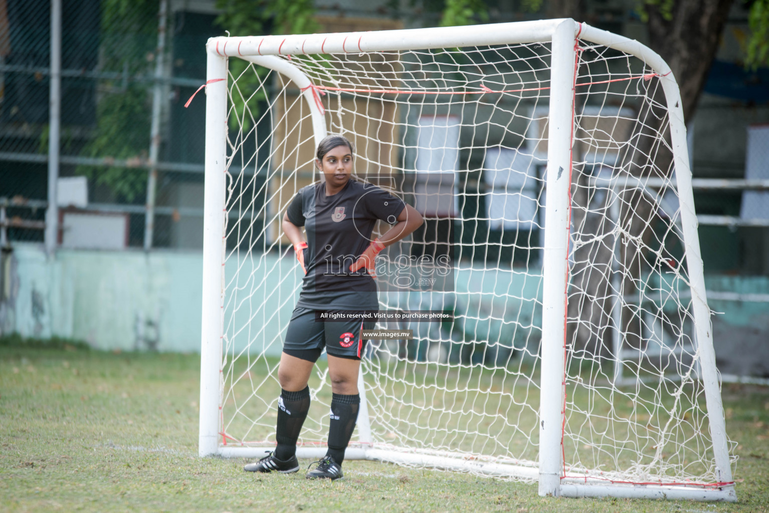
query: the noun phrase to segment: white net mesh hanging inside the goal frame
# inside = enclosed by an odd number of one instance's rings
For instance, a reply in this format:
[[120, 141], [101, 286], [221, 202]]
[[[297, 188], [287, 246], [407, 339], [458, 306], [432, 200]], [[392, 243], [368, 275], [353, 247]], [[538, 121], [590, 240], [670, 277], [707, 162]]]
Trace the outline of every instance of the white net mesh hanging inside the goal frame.
[[[454, 320], [380, 325], [414, 339], [367, 347], [371, 444], [536, 468], [549, 45], [289, 60], [328, 131], [355, 144], [358, 177], [424, 215], [385, 260], [451, 262], [448, 278], [405, 287], [378, 272], [382, 310]], [[221, 442], [270, 446], [302, 276], [279, 220], [317, 178], [315, 139], [295, 84], [229, 65]], [[576, 84], [564, 476], [712, 484], [659, 78], [638, 58], [581, 43]], [[328, 432], [330, 383], [324, 362], [316, 369], [301, 445]]]

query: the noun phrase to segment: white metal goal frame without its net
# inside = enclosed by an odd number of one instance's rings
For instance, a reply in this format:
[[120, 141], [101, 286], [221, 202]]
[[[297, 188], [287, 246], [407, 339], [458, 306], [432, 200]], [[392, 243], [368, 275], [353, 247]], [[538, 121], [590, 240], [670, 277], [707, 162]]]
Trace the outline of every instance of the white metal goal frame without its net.
[[[276, 55], [303, 53], [346, 53], [359, 51], [398, 51], [408, 49], [455, 48], [478, 45], [549, 43], [552, 48], [551, 103], [548, 122], [546, 183], [548, 205], [567, 205], [571, 169], [571, 134], [574, 127], [575, 39], [581, 38], [615, 48], [641, 58], [659, 75], [670, 117], [671, 147], [677, 191], [681, 199], [681, 228], [687, 254], [687, 273], [691, 280], [696, 341], [701, 355], [703, 382], [718, 488], [686, 485], [586, 485], [561, 477], [562, 425], [564, 423], [565, 323], [542, 323], [541, 405], [539, 407], [539, 468], [521, 468], [523, 476], [539, 482], [540, 495], [568, 497], [615, 496], [623, 498], [681, 498], [735, 501], [728, 440], [725, 431], [719, 376], [711, 336], [710, 310], [704, 286], [703, 264], [697, 237], [691, 170], [687, 154], [686, 127], [681, 95], [662, 58], [638, 41], [611, 34], [571, 19], [537, 22], [471, 25], [448, 28], [352, 32], [316, 35], [269, 35], [264, 37], [211, 38], [206, 46], [205, 135], [205, 214], [203, 239], [203, 304], [201, 336], [201, 395], [199, 454], [253, 457], [263, 448], [220, 448], [222, 397], [221, 362], [224, 319], [225, 258], [225, 173], [227, 150], [228, 71], [227, 58], [238, 57], [278, 71], [304, 89], [311, 111], [315, 143], [325, 137], [325, 118], [313, 98], [309, 79], [299, 68]], [[547, 208], [544, 230], [543, 319], [564, 319], [568, 285], [568, 208]], [[365, 391], [361, 381], [361, 415], [358, 432], [365, 441], [368, 430]], [[325, 448], [299, 448], [299, 457], [325, 454]], [[348, 459], [369, 459], [435, 468], [471, 469], [488, 475], [510, 475], [511, 465], [484, 464], [462, 458], [441, 458], [414, 452], [386, 451], [381, 448], [351, 447]]]

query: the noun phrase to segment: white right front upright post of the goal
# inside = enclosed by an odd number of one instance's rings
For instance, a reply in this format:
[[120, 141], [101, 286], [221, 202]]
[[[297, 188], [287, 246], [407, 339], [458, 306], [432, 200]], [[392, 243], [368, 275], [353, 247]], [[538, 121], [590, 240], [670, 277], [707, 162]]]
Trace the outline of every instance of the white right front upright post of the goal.
[[571, 140], [574, 126], [574, 21], [555, 28], [548, 121], [547, 208], [544, 210], [542, 371], [539, 406], [539, 495], [559, 495], [564, 419], [566, 286]]

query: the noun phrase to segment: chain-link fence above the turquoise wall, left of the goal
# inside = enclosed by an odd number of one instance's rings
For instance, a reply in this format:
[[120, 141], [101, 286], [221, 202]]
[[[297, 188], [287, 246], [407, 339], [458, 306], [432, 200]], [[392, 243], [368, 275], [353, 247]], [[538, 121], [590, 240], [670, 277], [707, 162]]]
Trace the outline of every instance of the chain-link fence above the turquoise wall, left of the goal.
[[[205, 101], [183, 106], [205, 82], [205, 41], [221, 30], [214, 12], [170, 3], [62, 0], [62, 247], [201, 247]], [[6, 240], [44, 237], [55, 52], [51, 0], [0, 2]]]

